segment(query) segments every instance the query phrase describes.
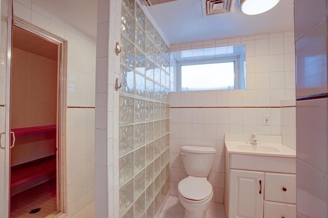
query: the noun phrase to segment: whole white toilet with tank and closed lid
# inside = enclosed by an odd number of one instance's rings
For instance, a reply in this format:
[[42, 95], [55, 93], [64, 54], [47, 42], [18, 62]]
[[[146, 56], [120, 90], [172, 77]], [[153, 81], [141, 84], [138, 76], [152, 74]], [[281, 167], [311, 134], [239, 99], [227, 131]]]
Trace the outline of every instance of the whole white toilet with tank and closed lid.
[[178, 195], [185, 208], [185, 218], [206, 218], [206, 209], [213, 197], [207, 180], [216, 150], [213, 147], [183, 146], [181, 157], [188, 177], [178, 184]]

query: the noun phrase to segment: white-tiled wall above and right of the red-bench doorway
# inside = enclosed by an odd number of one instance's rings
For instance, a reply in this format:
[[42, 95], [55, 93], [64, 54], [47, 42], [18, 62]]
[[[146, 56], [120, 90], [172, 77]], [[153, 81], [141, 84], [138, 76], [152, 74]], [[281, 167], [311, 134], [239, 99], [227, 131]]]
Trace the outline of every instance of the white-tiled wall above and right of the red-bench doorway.
[[90, 166], [94, 166], [95, 160], [96, 40], [29, 0], [14, 0], [13, 11], [14, 16], [67, 41], [68, 108], [65, 109], [66, 118], [62, 118], [67, 130], [66, 141], [61, 146], [66, 151], [63, 152], [66, 156], [62, 157], [67, 172], [67, 192], [63, 193], [67, 204], [64, 204], [64, 209], [72, 215], [94, 201], [94, 167]]

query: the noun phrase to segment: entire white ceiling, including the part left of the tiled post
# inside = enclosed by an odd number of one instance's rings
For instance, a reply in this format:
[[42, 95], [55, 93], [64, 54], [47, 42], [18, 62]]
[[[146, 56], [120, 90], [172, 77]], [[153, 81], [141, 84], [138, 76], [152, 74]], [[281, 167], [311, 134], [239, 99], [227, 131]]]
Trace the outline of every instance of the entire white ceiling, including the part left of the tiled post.
[[[96, 38], [97, 0], [31, 1]], [[147, 9], [170, 44], [294, 30], [293, 0], [280, 0], [259, 15], [243, 14], [235, 0], [232, 12], [206, 17], [201, 1], [177, 0]]]

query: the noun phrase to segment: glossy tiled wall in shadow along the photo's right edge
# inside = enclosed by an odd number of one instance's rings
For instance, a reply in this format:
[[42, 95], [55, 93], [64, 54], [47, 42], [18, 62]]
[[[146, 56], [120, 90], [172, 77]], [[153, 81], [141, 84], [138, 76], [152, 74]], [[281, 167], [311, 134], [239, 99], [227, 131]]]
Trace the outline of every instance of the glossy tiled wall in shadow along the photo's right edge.
[[[327, 93], [327, 6], [319, 1], [308, 10], [302, 1], [294, 4], [297, 97]], [[326, 97], [296, 102], [296, 213], [301, 218], [328, 214], [327, 105]]]

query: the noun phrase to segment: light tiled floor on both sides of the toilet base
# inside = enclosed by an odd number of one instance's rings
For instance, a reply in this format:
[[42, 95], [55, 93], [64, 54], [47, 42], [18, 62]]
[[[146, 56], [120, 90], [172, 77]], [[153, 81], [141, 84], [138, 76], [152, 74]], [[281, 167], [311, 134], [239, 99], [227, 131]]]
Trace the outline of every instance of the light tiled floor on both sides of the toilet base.
[[[185, 208], [180, 204], [179, 198], [170, 195], [158, 218], [183, 218], [184, 214]], [[211, 202], [206, 214], [207, 218], [224, 218], [223, 204]]]

